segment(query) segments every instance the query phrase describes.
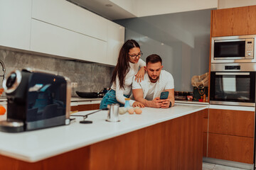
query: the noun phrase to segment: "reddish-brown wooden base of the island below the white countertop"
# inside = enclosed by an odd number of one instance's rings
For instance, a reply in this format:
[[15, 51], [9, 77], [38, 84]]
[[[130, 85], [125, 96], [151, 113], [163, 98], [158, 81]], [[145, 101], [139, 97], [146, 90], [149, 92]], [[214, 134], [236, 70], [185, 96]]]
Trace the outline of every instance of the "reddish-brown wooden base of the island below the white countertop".
[[0, 169], [202, 169], [202, 118], [190, 113], [38, 162], [0, 155]]

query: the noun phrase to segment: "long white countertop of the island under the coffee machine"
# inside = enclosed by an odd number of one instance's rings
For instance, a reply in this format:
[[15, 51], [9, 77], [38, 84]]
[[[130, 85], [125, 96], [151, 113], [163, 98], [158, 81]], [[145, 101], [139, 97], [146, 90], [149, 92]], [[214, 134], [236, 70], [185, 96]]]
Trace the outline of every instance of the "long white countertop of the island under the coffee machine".
[[118, 123], [105, 121], [107, 111], [100, 111], [88, 116], [87, 120], [92, 120], [92, 124], [81, 124], [79, 121], [82, 118], [75, 117], [75, 123], [55, 128], [20, 133], [0, 132], [0, 154], [26, 162], [37, 162], [204, 108], [208, 107], [176, 104], [172, 108], [142, 108], [141, 115], [120, 115], [121, 121]]

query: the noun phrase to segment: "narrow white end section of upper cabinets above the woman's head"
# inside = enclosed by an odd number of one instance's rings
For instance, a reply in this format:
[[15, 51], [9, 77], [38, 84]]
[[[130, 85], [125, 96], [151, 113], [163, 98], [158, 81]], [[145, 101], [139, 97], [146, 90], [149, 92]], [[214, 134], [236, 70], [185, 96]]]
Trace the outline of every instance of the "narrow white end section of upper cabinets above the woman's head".
[[116, 65], [119, 50], [124, 43], [124, 27], [117, 23], [107, 23], [107, 64]]

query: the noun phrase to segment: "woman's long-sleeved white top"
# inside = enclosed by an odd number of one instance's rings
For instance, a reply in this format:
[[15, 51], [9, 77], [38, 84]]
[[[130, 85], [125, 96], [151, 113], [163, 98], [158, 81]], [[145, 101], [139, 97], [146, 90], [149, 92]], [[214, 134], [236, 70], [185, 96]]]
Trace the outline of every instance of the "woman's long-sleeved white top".
[[[116, 98], [119, 103], [125, 103], [125, 97], [124, 94], [131, 94], [132, 91], [132, 79], [134, 78], [135, 74], [139, 71], [139, 67], [144, 67], [146, 66], [146, 62], [143, 60], [139, 59], [139, 62], [136, 64], [129, 62], [129, 72], [127, 73], [126, 77], [124, 78], [124, 88], [120, 89], [120, 84], [119, 84], [119, 78], [117, 75], [116, 80], [111, 86], [111, 89], [116, 91]], [[133, 100], [130, 100], [130, 106], [134, 103]]]

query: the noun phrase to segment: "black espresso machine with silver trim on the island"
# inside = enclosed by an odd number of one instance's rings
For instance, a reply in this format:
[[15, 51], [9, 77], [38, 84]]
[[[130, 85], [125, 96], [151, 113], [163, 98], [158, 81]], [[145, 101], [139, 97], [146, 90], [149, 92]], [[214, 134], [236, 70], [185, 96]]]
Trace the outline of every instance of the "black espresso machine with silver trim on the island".
[[70, 123], [70, 79], [46, 72], [14, 70], [3, 82], [7, 119], [0, 131], [23, 132]]

